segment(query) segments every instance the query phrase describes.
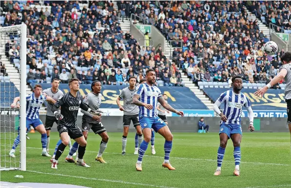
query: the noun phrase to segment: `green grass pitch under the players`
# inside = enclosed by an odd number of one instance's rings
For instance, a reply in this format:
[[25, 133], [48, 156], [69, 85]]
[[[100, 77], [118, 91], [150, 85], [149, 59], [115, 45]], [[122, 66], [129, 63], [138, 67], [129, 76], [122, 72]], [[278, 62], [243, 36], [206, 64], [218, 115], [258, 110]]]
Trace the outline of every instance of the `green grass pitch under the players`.
[[[1, 136], [1, 155], [3, 155], [4, 139], [3, 135]], [[55, 170], [50, 168], [50, 158], [40, 156], [40, 135], [29, 134], [27, 171], [1, 171], [1, 181], [62, 183], [91, 188], [148, 188], [149, 185], [164, 186], [164, 188], [291, 187], [289, 133], [244, 133], [241, 143], [240, 177], [233, 176], [234, 159], [231, 140], [224, 156], [222, 174], [218, 177], [213, 176], [219, 145], [219, 137], [216, 133], [174, 133], [170, 161], [176, 171], [162, 168], [164, 139], [156, 134], [156, 154], [151, 154], [149, 146], [143, 159], [143, 171], [137, 172], [135, 169], [137, 155], [133, 154], [134, 134], [130, 133], [128, 136], [125, 156], [120, 154], [121, 136], [122, 133], [109, 133], [109, 143], [106, 153], [103, 154], [108, 164], [94, 161], [99, 149], [100, 137], [90, 133], [84, 160], [91, 165], [91, 168], [65, 163], [64, 158], [68, 154], [66, 149], [59, 159], [58, 169]], [[50, 153], [53, 153], [57, 141], [58, 133], [52, 133]], [[6, 154], [8, 153], [9, 151], [6, 151]], [[24, 178], [14, 178], [17, 174], [23, 175]], [[59, 174], [76, 177], [64, 177]]]

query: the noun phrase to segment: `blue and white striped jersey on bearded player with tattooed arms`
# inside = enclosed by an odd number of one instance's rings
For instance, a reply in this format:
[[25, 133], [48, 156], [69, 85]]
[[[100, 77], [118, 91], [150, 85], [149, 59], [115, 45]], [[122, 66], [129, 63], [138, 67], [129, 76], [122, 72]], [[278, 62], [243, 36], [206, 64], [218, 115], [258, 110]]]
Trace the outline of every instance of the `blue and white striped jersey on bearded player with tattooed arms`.
[[146, 104], [152, 104], [153, 109], [148, 110], [144, 106], [138, 106], [139, 107], [139, 117], [156, 117], [157, 116], [157, 110], [156, 110], [156, 105], [157, 105], [157, 100], [158, 98], [162, 97], [160, 89], [153, 85], [148, 85], [148, 84], [140, 84], [136, 87], [136, 92], [135, 95], [139, 95], [139, 101], [141, 103], [146, 103]]

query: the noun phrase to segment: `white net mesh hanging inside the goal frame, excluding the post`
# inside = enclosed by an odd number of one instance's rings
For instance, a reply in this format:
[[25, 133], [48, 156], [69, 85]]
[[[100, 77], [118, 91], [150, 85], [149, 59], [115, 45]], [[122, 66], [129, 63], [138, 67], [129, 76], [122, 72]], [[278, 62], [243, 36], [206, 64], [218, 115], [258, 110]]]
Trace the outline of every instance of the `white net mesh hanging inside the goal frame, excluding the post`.
[[20, 165], [20, 144], [15, 157], [9, 156], [20, 124], [19, 108], [10, 107], [20, 91], [20, 41], [20, 25], [0, 28], [0, 170], [19, 169]]

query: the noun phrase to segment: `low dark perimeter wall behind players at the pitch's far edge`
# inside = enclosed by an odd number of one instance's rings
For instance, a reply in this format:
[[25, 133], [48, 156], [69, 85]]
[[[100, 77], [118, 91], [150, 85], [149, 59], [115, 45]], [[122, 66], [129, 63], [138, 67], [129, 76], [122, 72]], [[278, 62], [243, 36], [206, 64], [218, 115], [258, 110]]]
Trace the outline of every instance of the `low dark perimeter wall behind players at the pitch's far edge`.
[[[45, 115], [40, 115], [40, 120], [45, 122]], [[14, 115], [0, 115], [1, 133], [14, 132], [15, 123]], [[81, 127], [82, 117], [78, 116], [77, 123]], [[200, 117], [168, 117], [169, 127], [172, 132], [197, 132], [197, 123]], [[219, 132], [220, 118], [217, 117], [205, 117], [206, 124], [210, 126], [210, 132]], [[5, 123], [5, 124], [4, 124]], [[248, 118], [242, 118], [242, 130], [243, 132], [248, 131]], [[16, 125], [18, 126], [18, 122]], [[102, 124], [108, 132], [122, 132], [122, 116], [103, 116]], [[254, 127], [256, 132], [289, 132], [287, 119], [286, 118], [255, 118]], [[135, 132], [133, 125], [130, 126], [129, 130]], [[53, 126], [53, 132], [57, 132], [56, 124]]]

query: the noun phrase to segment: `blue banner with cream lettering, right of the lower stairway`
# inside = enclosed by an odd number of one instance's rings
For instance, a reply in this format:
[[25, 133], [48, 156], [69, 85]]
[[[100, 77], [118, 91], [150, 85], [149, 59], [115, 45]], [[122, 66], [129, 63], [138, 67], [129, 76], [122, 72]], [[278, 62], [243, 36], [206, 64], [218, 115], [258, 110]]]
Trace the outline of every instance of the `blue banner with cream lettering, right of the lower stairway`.
[[[215, 102], [221, 93], [227, 91], [227, 88], [203, 88], [203, 91], [210, 97], [210, 99]], [[262, 98], [256, 98], [254, 92], [256, 89], [242, 89], [243, 92], [252, 103], [252, 109], [254, 111], [260, 111], [262, 114], [264, 110], [270, 110], [272, 112], [277, 112], [278, 110], [285, 111], [287, 109], [287, 104], [285, 103], [285, 95], [283, 89], [269, 89], [267, 93], [264, 94]], [[266, 114], [266, 116], [268, 116]], [[279, 116], [280, 117], [280, 116]]]

